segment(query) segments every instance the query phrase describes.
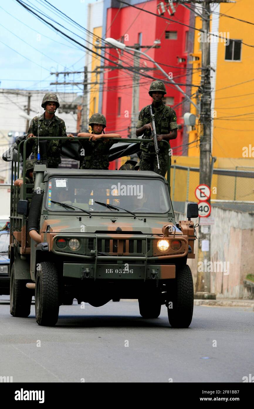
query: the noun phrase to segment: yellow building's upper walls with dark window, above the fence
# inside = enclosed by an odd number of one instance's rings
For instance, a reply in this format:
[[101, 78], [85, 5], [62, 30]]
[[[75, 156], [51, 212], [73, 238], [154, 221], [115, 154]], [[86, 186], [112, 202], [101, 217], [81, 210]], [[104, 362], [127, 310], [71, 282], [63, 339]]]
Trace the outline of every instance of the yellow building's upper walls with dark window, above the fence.
[[[254, 60], [253, 48], [244, 45], [254, 44], [254, 32], [251, 25], [234, 18], [254, 21], [253, 0], [245, 0], [236, 4], [216, 4], [211, 13], [211, 32], [219, 34], [229, 41], [211, 36], [210, 63], [215, 73], [212, 74], [212, 156], [225, 158], [243, 158], [243, 149], [253, 144], [254, 126], [254, 78], [252, 64]], [[227, 14], [233, 18], [219, 16], [216, 13]], [[195, 19], [195, 27], [201, 29], [200, 17]], [[194, 32], [194, 51], [192, 54], [193, 68], [201, 66], [201, 43], [198, 41], [199, 32]], [[240, 40], [242, 41], [236, 41]], [[197, 59], [199, 60], [197, 61]], [[192, 83], [199, 85], [201, 73], [193, 71]], [[197, 88], [192, 87], [192, 94]], [[196, 99], [194, 101], [197, 103]], [[190, 112], [196, 114], [191, 106]], [[197, 127], [196, 127], [197, 128]], [[199, 139], [199, 129], [191, 131], [189, 142]], [[198, 145], [198, 144], [197, 144]], [[199, 148], [191, 144], [189, 156], [199, 156]], [[251, 158], [252, 156], [249, 155]], [[253, 152], [254, 157], [254, 152]], [[240, 166], [233, 161], [234, 167]], [[248, 165], [250, 166], [250, 165]], [[253, 165], [254, 166], [254, 163]]]

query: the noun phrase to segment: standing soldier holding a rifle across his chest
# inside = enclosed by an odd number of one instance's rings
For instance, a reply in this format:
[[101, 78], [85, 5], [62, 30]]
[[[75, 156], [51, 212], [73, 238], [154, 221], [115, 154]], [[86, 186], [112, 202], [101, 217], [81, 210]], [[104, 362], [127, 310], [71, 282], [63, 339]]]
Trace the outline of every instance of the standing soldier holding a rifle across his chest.
[[[139, 169], [141, 171], [154, 171], [159, 175], [165, 176], [167, 172], [168, 158], [171, 164], [171, 156], [169, 155], [166, 144], [163, 144], [162, 139], [169, 141], [177, 137], [177, 116], [172, 108], [164, 105], [162, 98], [166, 94], [166, 88], [163, 81], [152, 81], [149, 89], [149, 95], [152, 97], [152, 112], [155, 114], [155, 125], [157, 132], [157, 140], [159, 145], [159, 166], [158, 169], [157, 157], [153, 142], [140, 144], [141, 160]], [[151, 117], [149, 105], [145, 106], [139, 112], [139, 120], [136, 125], [136, 135], [143, 135], [142, 139], [151, 138]]]

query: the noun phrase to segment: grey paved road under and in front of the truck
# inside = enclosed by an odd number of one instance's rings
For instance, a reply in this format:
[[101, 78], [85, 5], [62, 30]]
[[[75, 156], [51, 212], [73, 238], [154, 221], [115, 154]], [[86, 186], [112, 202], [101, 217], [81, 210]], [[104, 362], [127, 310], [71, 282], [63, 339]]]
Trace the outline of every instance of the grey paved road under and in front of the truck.
[[243, 382], [254, 375], [252, 308], [194, 306], [190, 328], [175, 329], [165, 306], [146, 320], [134, 300], [85, 309], [74, 301], [49, 328], [37, 325], [34, 305], [29, 318], [11, 317], [4, 299], [0, 376], [13, 382]]

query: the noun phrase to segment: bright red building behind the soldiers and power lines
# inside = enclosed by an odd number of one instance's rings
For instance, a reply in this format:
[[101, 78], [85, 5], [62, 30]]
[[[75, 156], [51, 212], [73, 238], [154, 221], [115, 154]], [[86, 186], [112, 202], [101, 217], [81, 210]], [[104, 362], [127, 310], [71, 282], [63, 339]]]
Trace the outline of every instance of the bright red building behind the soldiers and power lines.
[[[132, 0], [131, 4], [156, 13], [157, 16], [124, 4], [121, 4], [122, 7], [119, 9], [119, 3], [115, 0], [104, 0], [103, 37], [115, 38], [126, 44], [127, 47], [134, 47], [135, 45], [137, 47], [137, 44], [139, 44], [141, 46], [140, 50], [152, 57], [168, 73], [170, 78], [186, 92], [186, 85], [180, 84], [186, 84], [188, 27], [159, 18], [157, 10], [159, 1], [157, 0], [148, 0], [148, 2]], [[174, 7], [176, 9], [174, 16], [170, 16], [168, 11], [164, 13], [164, 16], [188, 25], [190, 11], [177, 4]], [[154, 44], [155, 40], [161, 41], [160, 48], [147, 49], [147, 47]], [[133, 67], [134, 63], [137, 64], [137, 61], [134, 62], [133, 56], [126, 51], [114, 48], [107, 48], [105, 56], [127, 67], [127, 69], [117, 69], [112, 64], [112, 68], [105, 68], [104, 92], [100, 96], [100, 108], [107, 119], [106, 130], [107, 132], [119, 132], [122, 137], [128, 137], [131, 135], [131, 126], [138, 118], [137, 112], [132, 120], [133, 81], [135, 81], [135, 76], [128, 67]], [[111, 64], [105, 61], [105, 65], [110, 66]], [[152, 62], [142, 55], [139, 58], [139, 69], [137, 68], [137, 70], [140, 73], [139, 90], [135, 88], [135, 93], [139, 92], [138, 110], [141, 110], [152, 101], [148, 90], [151, 81], [154, 79], [147, 78], [147, 76], [161, 80], [166, 78]], [[179, 125], [177, 139], [170, 142], [171, 147], [174, 148], [174, 146], [183, 144], [184, 95], [173, 85], [169, 83], [165, 85], [167, 90], [165, 102], [175, 109], [177, 124]], [[174, 155], [181, 155], [182, 152], [182, 147], [173, 150]]]

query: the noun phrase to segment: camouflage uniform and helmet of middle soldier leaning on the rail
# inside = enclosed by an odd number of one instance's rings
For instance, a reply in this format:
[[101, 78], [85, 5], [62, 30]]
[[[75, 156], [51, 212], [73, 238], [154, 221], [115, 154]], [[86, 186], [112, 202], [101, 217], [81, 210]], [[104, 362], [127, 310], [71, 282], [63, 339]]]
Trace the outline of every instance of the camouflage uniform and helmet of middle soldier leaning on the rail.
[[[96, 135], [93, 131], [93, 124], [101, 124], [106, 127], [106, 118], [102, 114], [93, 114], [89, 120], [89, 125], [92, 127], [92, 134]], [[104, 129], [103, 128], [103, 129]], [[104, 130], [103, 130], [104, 133]], [[97, 134], [98, 135], [98, 134]], [[80, 169], [108, 169], [109, 161], [109, 149], [118, 141], [114, 142], [111, 139], [98, 139], [97, 141], [89, 141], [88, 139], [81, 139], [82, 148], [85, 151], [83, 161], [80, 160]]]

